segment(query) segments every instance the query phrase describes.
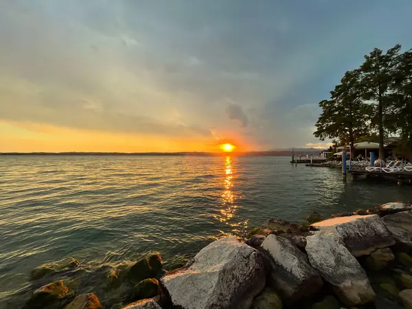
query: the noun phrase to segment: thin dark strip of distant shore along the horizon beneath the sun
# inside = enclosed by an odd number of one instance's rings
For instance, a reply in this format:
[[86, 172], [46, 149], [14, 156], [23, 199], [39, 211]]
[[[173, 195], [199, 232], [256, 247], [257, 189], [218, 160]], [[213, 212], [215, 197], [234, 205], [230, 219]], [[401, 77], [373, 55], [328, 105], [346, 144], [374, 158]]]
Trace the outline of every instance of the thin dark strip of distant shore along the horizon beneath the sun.
[[245, 157], [288, 157], [292, 151], [257, 152], [0, 152], [1, 156], [245, 156]]

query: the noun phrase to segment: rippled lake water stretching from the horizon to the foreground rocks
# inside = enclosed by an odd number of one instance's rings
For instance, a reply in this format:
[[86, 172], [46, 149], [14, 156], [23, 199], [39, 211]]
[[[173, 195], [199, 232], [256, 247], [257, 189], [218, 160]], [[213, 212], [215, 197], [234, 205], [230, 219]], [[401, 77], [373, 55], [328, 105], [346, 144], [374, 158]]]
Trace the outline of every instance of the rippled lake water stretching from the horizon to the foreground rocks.
[[47, 261], [73, 256], [98, 265], [151, 250], [170, 266], [274, 216], [299, 221], [312, 211], [412, 201], [410, 186], [344, 183], [339, 170], [289, 160], [0, 157], [0, 308]]

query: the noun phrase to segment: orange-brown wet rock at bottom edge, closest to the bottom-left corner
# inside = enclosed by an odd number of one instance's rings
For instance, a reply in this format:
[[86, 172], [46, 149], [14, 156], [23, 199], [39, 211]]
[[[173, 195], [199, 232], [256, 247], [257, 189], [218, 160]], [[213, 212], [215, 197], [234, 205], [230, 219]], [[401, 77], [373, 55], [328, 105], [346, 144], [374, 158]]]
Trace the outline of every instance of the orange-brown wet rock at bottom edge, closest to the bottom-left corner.
[[52, 282], [35, 290], [32, 298], [27, 301], [27, 309], [43, 309], [50, 304], [60, 301], [62, 297], [69, 293], [69, 288], [62, 281]]

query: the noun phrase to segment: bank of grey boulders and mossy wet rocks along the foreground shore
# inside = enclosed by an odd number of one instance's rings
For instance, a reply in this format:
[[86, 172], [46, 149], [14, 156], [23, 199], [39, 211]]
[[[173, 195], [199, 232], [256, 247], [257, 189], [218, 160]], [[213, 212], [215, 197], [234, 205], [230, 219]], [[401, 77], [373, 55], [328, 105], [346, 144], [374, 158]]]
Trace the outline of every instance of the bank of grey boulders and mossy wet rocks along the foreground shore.
[[[98, 291], [75, 259], [38, 266], [23, 308], [412, 309], [411, 254], [411, 205], [314, 213], [299, 223], [272, 218], [248, 239], [216, 240], [172, 271], [159, 254], [101, 267], [93, 272]], [[65, 277], [77, 271], [76, 280]]]

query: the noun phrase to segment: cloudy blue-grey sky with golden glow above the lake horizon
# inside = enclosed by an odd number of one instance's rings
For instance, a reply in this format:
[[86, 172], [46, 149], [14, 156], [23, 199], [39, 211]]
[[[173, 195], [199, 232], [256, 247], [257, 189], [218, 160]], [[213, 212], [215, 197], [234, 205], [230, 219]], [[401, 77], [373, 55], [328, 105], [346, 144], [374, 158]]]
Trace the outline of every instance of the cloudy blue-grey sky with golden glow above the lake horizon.
[[0, 152], [325, 146], [318, 103], [374, 47], [411, 48], [411, 14], [410, 0], [0, 0]]

